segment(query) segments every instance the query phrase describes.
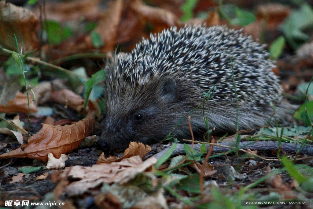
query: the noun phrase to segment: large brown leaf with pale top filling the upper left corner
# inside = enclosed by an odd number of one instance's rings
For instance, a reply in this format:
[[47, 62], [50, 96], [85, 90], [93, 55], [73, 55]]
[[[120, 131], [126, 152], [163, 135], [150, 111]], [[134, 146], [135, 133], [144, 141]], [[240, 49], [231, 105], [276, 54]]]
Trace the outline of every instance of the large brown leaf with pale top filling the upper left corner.
[[17, 7], [14, 4], [0, 1], [0, 45], [10, 50], [16, 50], [13, 33], [18, 43], [24, 43], [23, 48], [34, 50], [39, 47], [36, 36], [38, 19], [30, 10]]

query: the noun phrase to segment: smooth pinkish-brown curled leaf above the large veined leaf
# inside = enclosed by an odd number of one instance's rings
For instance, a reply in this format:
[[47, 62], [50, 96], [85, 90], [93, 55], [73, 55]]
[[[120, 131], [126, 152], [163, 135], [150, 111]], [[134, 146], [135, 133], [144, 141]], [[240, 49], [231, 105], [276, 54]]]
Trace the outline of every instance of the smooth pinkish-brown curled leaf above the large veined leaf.
[[85, 100], [80, 95], [74, 93], [69, 89], [62, 89], [60, 91], [54, 91], [51, 93], [51, 102], [57, 102], [59, 104], [70, 107], [77, 112], [82, 112], [83, 104]]

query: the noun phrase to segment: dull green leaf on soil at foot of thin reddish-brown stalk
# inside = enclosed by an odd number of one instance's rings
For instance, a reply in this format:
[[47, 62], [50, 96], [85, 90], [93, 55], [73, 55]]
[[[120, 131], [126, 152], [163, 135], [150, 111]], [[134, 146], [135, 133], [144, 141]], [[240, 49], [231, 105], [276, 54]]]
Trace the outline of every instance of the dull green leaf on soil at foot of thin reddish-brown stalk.
[[200, 190], [200, 176], [199, 174], [195, 173], [192, 175], [189, 175], [187, 178], [184, 178], [180, 180], [176, 188], [178, 190], [184, 190], [184, 191], [189, 191], [195, 194], [199, 194], [201, 192]]

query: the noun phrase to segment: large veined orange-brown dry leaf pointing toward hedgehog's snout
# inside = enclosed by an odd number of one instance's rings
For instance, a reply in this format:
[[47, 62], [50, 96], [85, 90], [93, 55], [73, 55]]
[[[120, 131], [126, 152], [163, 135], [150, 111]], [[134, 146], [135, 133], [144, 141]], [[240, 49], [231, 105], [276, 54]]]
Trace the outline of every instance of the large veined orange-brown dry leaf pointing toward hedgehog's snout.
[[27, 157], [47, 161], [49, 152], [55, 158], [59, 158], [61, 154], [77, 149], [83, 139], [92, 133], [95, 126], [95, 116], [89, 112], [86, 118], [71, 125], [53, 126], [43, 123], [42, 126], [38, 133], [28, 139], [26, 146], [0, 155], [0, 159]]

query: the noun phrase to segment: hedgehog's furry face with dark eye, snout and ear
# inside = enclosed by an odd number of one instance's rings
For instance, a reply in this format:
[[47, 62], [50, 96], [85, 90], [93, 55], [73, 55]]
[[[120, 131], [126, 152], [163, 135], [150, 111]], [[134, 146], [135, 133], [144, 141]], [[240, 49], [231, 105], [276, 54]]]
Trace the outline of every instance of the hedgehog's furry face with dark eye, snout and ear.
[[107, 112], [99, 140], [100, 149], [106, 152], [126, 149], [131, 141], [159, 142], [181, 118], [178, 88], [172, 78], [145, 85], [107, 83], [106, 89]]

